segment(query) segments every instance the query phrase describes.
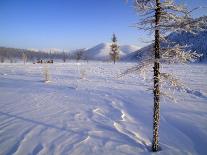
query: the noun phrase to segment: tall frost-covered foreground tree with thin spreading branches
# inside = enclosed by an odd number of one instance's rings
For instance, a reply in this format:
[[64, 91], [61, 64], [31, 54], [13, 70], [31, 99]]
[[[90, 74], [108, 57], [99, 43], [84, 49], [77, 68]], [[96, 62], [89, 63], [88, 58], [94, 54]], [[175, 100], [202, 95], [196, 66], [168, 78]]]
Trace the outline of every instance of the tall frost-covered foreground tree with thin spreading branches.
[[[191, 13], [198, 8], [189, 11], [185, 6], [178, 5], [174, 0], [133, 0], [136, 11], [143, 17], [137, 27], [154, 34], [153, 54], [142, 60], [138, 66], [127, 72], [146, 70], [146, 66], [153, 66], [153, 140], [152, 151], [159, 150], [159, 122], [160, 122], [160, 95], [161, 84], [165, 80], [172, 87], [180, 87], [173, 75], [161, 73], [161, 62], [186, 63], [194, 61], [199, 55], [194, 51], [186, 51], [186, 46], [181, 46], [167, 39], [171, 32], [192, 32], [202, 30], [206, 22], [202, 18], [193, 19]], [[196, 30], [196, 31], [195, 31]], [[167, 82], [166, 82], [167, 81]]]

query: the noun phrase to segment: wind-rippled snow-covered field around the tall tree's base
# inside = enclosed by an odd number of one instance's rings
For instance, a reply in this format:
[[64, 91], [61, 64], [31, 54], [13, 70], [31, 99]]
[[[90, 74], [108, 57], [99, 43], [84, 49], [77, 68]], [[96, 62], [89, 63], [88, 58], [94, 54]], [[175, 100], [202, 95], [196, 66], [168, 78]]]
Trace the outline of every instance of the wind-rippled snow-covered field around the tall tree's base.
[[[153, 96], [133, 63], [0, 64], [0, 154], [152, 154]], [[165, 66], [189, 84], [161, 101], [156, 154], [207, 152], [207, 66]]]

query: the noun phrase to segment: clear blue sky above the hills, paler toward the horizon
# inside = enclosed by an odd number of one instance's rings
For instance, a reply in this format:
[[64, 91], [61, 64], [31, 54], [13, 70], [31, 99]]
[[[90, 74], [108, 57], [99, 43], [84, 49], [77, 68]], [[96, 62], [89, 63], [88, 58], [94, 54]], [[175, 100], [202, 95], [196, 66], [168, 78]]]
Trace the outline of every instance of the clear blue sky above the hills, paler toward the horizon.
[[[207, 0], [177, 1], [207, 6]], [[0, 46], [88, 48], [110, 42], [113, 32], [120, 44], [143, 46], [146, 34], [130, 27], [138, 19], [125, 0], [0, 0]]]

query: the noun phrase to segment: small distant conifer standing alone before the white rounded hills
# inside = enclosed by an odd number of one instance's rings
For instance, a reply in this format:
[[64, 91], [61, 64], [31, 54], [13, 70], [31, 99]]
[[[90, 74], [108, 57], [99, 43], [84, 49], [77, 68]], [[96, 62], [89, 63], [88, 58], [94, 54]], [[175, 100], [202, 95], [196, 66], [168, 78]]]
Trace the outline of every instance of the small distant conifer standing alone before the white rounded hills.
[[115, 34], [113, 34], [112, 37], [111, 51], [109, 54], [115, 64], [116, 61], [119, 60], [119, 46], [117, 45], [117, 38]]

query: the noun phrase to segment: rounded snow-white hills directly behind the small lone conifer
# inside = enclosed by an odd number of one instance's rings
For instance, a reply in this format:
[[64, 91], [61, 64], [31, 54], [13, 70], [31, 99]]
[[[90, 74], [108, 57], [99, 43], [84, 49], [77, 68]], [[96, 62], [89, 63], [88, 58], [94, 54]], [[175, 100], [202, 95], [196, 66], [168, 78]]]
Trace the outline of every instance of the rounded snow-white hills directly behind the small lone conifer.
[[[87, 49], [84, 52], [84, 57], [89, 60], [102, 60], [108, 61], [109, 53], [111, 51], [111, 43], [101, 43], [90, 49]], [[137, 51], [139, 48], [134, 45], [122, 45], [120, 46], [120, 57], [124, 57], [125, 55]]]

